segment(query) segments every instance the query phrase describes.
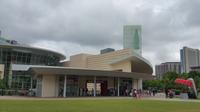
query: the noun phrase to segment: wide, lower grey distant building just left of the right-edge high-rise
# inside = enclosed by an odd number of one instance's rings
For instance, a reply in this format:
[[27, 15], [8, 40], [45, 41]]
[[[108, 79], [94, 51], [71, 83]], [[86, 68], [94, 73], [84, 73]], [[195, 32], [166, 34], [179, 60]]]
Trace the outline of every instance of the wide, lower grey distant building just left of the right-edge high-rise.
[[160, 65], [156, 65], [156, 78], [162, 79], [164, 74], [167, 72], [181, 73], [180, 62], [165, 62]]

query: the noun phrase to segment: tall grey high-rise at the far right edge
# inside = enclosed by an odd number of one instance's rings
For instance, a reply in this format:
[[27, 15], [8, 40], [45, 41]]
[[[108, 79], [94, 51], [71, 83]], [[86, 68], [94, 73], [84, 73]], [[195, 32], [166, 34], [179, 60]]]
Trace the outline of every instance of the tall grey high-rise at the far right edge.
[[182, 73], [188, 73], [192, 67], [200, 66], [200, 51], [198, 49], [183, 47], [180, 50], [180, 56]]

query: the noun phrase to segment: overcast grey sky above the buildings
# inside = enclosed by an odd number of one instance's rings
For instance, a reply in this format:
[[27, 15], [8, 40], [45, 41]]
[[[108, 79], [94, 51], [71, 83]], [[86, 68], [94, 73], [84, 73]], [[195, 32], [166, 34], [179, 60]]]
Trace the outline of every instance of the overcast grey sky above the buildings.
[[143, 56], [155, 65], [200, 48], [199, 13], [200, 0], [0, 0], [0, 30], [68, 57], [121, 49], [123, 25], [142, 25]]

